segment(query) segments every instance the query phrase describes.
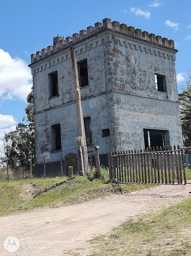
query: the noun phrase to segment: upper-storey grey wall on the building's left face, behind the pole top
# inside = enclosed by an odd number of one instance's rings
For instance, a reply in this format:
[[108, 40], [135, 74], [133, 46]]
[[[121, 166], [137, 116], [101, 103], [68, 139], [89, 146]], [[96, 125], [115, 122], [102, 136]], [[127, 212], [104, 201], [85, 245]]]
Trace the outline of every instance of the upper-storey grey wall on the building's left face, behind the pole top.
[[[77, 61], [87, 59], [88, 80], [86, 88], [93, 94], [105, 93], [105, 73], [103, 58], [103, 36], [76, 46]], [[88, 49], [87, 45], [91, 45]], [[96, 68], [95, 68], [96, 67]], [[59, 97], [49, 99], [49, 76], [48, 74], [58, 71]], [[32, 68], [36, 85], [34, 86], [35, 112], [51, 109], [63, 104], [74, 102], [73, 71], [70, 57], [70, 50], [50, 56], [42, 63]], [[82, 96], [90, 96], [89, 93], [82, 92]]]

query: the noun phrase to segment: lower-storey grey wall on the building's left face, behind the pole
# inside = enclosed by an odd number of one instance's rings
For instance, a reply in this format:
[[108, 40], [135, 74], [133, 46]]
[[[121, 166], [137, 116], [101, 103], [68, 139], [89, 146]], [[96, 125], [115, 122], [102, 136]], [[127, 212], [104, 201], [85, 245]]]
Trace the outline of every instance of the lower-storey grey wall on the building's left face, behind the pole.
[[[105, 95], [100, 96], [106, 99]], [[84, 117], [91, 117], [92, 127], [92, 145], [101, 145], [100, 154], [106, 153], [108, 150], [114, 150], [111, 146], [112, 138], [115, 140], [114, 127], [111, 127], [108, 118], [107, 102], [90, 98], [82, 101], [82, 109]], [[99, 118], [98, 118], [99, 116]], [[67, 154], [77, 154], [77, 146], [75, 138], [78, 135], [78, 124], [75, 103], [61, 106], [39, 113], [35, 117], [36, 120], [36, 162], [43, 163], [43, 155], [46, 162], [59, 161], [60, 154], [62, 159]], [[61, 145], [62, 150], [51, 152], [51, 125], [60, 124], [61, 128]], [[110, 128], [110, 136], [102, 137], [102, 129]], [[92, 147], [88, 147], [92, 150]]]

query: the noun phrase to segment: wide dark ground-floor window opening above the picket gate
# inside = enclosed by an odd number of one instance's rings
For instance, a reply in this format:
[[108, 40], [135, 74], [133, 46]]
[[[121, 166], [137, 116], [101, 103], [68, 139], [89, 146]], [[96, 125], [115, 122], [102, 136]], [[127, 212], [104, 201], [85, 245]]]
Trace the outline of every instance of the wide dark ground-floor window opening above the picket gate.
[[145, 148], [169, 146], [169, 131], [143, 129]]

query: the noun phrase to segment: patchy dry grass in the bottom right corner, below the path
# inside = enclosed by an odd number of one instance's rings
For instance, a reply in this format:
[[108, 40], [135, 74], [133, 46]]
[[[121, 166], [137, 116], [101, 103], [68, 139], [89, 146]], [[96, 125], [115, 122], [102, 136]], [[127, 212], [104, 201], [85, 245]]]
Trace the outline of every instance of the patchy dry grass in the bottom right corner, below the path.
[[96, 237], [91, 256], [183, 256], [191, 255], [191, 199], [130, 219]]

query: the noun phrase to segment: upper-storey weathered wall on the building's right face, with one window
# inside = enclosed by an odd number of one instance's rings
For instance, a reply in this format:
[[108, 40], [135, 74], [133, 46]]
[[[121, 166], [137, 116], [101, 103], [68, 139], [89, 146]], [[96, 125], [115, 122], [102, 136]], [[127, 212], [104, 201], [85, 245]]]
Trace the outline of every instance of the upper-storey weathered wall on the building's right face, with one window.
[[[111, 60], [116, 77], [112, 89], [153, 99], [178, 101], [175, 53], [138, 39], [110, 35]], [[154, 74], [166, 78], [167, 93], [155, 90]]]

